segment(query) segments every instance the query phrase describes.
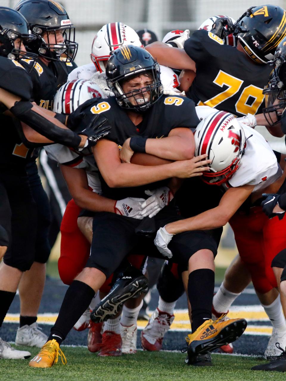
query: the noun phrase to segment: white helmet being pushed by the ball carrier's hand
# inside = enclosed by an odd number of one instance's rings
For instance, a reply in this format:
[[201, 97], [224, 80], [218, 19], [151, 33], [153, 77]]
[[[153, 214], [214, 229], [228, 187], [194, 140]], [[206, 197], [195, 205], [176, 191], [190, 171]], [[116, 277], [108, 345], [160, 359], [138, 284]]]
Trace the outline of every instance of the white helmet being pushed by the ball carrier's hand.
[[194, 132], [196, 156], [207, 154], [211, 160], [209, 172], [202, 179], [207, 184], [226, 182], [239, 168], [245, 148], [245, 135], [236, 118], [217, 111], [204, 118]]

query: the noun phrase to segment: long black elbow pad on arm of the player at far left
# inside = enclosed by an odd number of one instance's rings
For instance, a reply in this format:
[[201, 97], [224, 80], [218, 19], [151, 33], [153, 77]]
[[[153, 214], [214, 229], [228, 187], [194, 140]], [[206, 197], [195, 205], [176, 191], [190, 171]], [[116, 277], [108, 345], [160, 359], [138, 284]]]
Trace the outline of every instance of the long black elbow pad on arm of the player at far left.
[[81, 142], [79, 135], [71, 130], [60, 128], [42, 115], [33, 111], [32, 107], [33, 105], [29, 101], [19, 101], [15, 102], [10, 111], [16, 118], [32, 127], [39, 134], [45, 136], [45, 138], [63, 144], [64, 146], [79, 146]]

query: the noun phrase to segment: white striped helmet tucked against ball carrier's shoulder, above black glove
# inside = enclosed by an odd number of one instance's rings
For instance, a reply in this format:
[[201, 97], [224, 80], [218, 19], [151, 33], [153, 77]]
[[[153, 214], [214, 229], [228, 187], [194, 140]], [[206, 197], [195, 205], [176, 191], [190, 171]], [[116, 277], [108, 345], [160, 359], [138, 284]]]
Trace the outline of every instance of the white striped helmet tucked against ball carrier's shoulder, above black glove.
[[102, 98], [101, 88], [86, 79], [74, 79], [65, 83], [56, 92], [53, 101], [53, 112], [71, 114], [88, 99]]

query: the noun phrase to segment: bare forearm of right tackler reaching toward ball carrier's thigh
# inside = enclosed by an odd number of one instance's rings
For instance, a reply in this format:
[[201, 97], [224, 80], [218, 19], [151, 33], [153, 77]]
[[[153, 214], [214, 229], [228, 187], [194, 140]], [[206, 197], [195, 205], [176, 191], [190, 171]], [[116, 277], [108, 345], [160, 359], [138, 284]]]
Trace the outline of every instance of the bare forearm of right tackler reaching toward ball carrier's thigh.
[[217, 207], [197, 216], [167, 224], [165, 228], [170, 234], [179, 234], [193, 230], [210, 230], [224, 226], [229, 218], [228, 213], [221, 213]]

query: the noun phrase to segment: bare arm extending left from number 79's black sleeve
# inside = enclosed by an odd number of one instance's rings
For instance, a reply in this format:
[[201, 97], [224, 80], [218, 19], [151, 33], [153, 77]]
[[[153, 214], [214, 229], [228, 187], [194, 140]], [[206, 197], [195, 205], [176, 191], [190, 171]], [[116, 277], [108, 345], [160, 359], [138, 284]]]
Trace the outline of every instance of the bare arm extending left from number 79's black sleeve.
[[183, 49], [172, 48], [163, 42], [153, 42], [146, 46], [159, 64], [173, 67], [174, 69], [190, 69], [196, 71], [196, 63]]

